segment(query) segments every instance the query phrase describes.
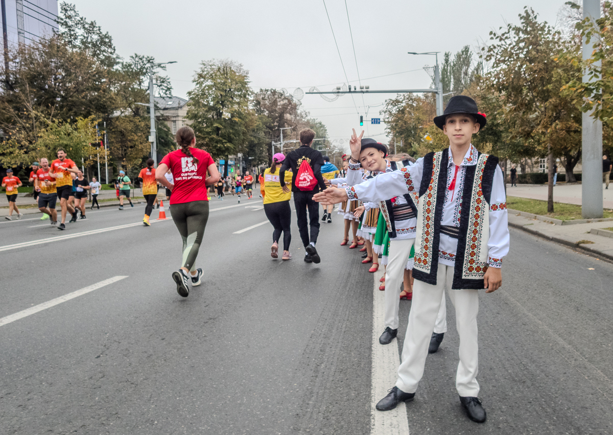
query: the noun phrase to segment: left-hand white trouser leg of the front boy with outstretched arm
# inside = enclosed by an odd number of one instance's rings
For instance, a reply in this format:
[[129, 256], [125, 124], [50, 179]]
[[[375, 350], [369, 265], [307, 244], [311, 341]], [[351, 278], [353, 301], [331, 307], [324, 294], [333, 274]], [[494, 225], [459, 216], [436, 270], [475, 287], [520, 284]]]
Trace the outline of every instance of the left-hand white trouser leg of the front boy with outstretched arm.
[[[417, 385], [424, 375], [425, 358], [428, 356], [430, 337], [441, 306], [446, 287], [446, 271], [453, 268], [438, 264], [436, 285], [415, 280], [413, 301], [406, 327], [405, 343], [402, 348], [402, 363], [398, 367], [396, 387], [405, 393], [417, 391]], [[449, 281], [451, 287], [451, 280]], [[387, 291], [387, 287], [386, 287]]]

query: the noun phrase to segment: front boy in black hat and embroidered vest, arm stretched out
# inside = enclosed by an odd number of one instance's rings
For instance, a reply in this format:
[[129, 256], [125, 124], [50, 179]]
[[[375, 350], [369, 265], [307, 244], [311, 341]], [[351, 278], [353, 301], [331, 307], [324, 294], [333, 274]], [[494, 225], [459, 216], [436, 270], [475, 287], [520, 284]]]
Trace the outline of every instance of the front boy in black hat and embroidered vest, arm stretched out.
[[326, 203], [345, 198], [373, 201], [383, 199], [382, 194], [385, 199], [407, 192], [419, 195], [413, 304], [402, 363], [395, 387], [376, 409], [394, 409], [398, 402], [414, 399], [441, 294], [447, 288], [460, 336], [455, 387], [468, 417], [482, 423], [486, 415], [476, 380], [478, 290], [492, 293], [502, 283], [502, 258], [509, 251], [504, 181], [498, 158], [479, 153], [471, 144], [472, 135], [486, 123], [473, 99], [454, 96], [434, 123], [449, 137], [449, 148], [354, 187], [327, 189], [316, 199]]

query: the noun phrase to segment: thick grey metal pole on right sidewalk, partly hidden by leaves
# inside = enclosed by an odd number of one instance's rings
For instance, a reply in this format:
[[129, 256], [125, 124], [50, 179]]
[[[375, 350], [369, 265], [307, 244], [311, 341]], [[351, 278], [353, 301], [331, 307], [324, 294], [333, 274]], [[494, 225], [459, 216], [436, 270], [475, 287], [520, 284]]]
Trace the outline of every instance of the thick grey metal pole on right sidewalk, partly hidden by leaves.
[[[600, 18], [600, 1], [583, 0], [583, 17], [597, 20]], [[583, 39], [582, 55], [587, 60], [592, 55], [592, 44]], [[600, 67], [600, 61], [595, 64]], [[584, 71], [583, 81], [590, 81]], [[582, 175], [581, 175], [581, 215], [584, 219], [603, 217], [603, 123], [592, 116], [593, 112], [582, 114]]]

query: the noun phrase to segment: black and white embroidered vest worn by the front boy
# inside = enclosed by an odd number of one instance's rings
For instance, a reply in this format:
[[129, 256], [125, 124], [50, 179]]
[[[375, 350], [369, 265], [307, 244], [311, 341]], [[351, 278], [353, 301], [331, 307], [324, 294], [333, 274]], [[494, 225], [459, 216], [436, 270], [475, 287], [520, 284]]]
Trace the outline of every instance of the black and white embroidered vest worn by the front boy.
[[[449, 148], [442, 152], [428, 153], [424, 157], [424, 172], [419, 187], [419, 210], [417, 215], [417, 239], [413, 276], [422, 282], [436, 285], [438, 271], [438, 247], [441, 221], [447, 189], [447, 164]], [[493, 176], [498, 158], [478, 153], [477, 164], [466, 166], [460, 228], [455, 255], [452, 289], [483, 288], [483, 276], [487, 270], [489, 239], [489, 202], [492, 194]], [[438, 179], [435, 177], [438, 174]], [[484, 226], [487, 225], [487, 229]], [[487, 236], [484, 237], [484, 233]]]

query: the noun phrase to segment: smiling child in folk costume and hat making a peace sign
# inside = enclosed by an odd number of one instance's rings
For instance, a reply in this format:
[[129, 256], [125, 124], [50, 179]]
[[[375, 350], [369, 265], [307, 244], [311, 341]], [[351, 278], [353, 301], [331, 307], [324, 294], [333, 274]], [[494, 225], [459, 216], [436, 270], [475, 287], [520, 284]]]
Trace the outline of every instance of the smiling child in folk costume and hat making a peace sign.
[[[398, 308], [400, 303], [400, 283], [403, 280], [404, 271], [411, 255], [411, 248], [415, 241], [417, 226], [417, 195], [401, 193], [394, 196], [387, 196], [387, 191], [377, 182], [382, 176], [387, 174], [402, 175], [403, 167], [409, 164], [386, 160], [387, 147], [379, 144], [374, 139], [362, 139], [364, 131], [358, 137], [353, 131], [349, 147], [351, 157], [349, 158], [349, 169], [347, 172], [346, 192], [351, 193], [355, 189], [368, 185], [381, 189], [381, 193], [376, 193], [370, 188], [370, 197], [364, 197], [364, 201], [379, 202], [381, 214], [386, 220], [387, 232], [389, 233], [389, 261], [386, 268], [386, 293], [385, 293], [385, 327], [383, 334], [379, 337], [380, 344], [390, 344], [398, 333]], [[373, 179], [362, 180], [360, 169], [364, 167], [367, 171], [376, 174]], [[409, 167], [409, 166], [407, 166]], [[327, 191], [326, 191], [327, 192]], [[342, 191], [341, 191], [342, 192]], [[321, 197], [325, 198], [325, 195]], [[357, 199], [352, 196], [352, 199]], [[444, 305], [443, 312], [439, 319], [438, 327], [444, 333], [446, 331], [446, 316]]]

